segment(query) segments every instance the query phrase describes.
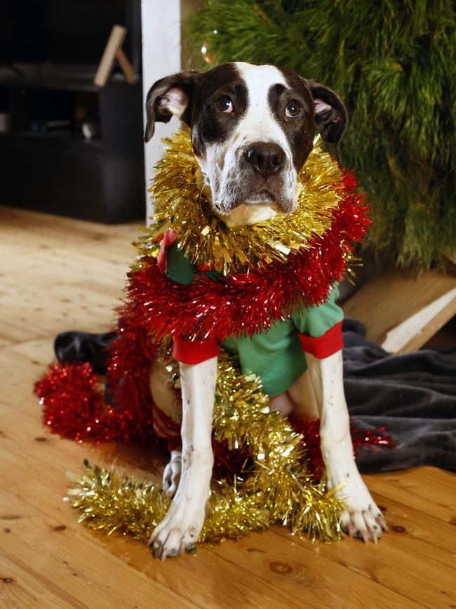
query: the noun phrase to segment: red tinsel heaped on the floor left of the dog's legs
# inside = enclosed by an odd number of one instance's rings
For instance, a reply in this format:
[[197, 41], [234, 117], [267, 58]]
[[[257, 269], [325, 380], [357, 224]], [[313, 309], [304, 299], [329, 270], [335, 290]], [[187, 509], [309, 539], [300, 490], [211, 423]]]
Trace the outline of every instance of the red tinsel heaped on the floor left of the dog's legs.
[[109, 351], [106, 380], [112, 404], [106, 404], [96, 388], [97, 377], [90, 364], [51, 366], [35, 385], [44, 405], [44, 422], [51, 431], [79, 442], [155, 444], [149, 389], [155, 354], [152, 341], [135, 318], [127, 315], [121, 319], [119, 337]]

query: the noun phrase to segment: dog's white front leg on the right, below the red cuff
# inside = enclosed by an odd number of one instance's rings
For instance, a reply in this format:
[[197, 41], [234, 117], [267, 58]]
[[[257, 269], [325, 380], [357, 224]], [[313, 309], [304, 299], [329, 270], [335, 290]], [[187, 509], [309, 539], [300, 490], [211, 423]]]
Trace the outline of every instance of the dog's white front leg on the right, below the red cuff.
[[306, 353], [320, 414], [321, 454], [326, 467], [328, 488], [337, 490], [347, 506], [342, 528], [351, 536], [377, 542], [387, 524], [370, 496], [354, 460], [350, 421], [344, 394], [342, 351], [318, 360]]

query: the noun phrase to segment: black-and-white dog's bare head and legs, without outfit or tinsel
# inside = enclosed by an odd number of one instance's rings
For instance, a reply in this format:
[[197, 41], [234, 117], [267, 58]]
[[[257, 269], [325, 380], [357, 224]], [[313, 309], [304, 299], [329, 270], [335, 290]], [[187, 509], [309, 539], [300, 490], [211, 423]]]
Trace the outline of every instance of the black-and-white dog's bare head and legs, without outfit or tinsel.
[[[177, 116], [191, 127], [192, 145], [210, 190], [213, 211], [228, 226], [264, 221], [296, 208], [297, 171], [318, 130], [336, 149], [347, 124], [342, 100], [326, 86], [272, 65], [229, 63], [208, 72], [181, 72], [157, 81], [147, 95], [145, 140], [155, 122]], [[284, 414], [321, 419], [321, 452], [328, 488], [347, 506], [342, 528], [377, 542], [386, 523], [354, 461], [344, 398], [342, 352], [318, 360], [306, 355], [308, 370], [271, 400]], [[149, 543], [159, 558], [176, 556], [194, 544], [203, 526], [213, 469], [211, 426], [217, 358], [180, 363], [182, 405], [154, 365], [150, 386], [164, 412], [182, 408], [182, 452], [173, 451], [163, 488], [175, 494]]]

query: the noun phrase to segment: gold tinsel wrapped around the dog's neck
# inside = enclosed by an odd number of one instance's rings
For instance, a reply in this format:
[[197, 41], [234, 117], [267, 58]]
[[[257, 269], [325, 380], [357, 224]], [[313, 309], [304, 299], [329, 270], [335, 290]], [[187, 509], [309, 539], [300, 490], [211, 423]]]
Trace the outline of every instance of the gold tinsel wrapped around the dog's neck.
[[[318, 136], [319, 137], [319, 136]], [[196, 162], [190, 131], [185, 128], [166, 142], [165, 154], [156, 165], [152, 193], [154, 209], [147, 235], [135, 245], [140, 256], [156, 257], [154, 238], [172, 228], [179, 247], [192, 262], [229, 275], [264, 268], [271, 262], [285, 263], [290, 251], [307, 249], [316, 236], [330, 228], [332, 212], [344, 197], [342, 172], [318, 138], [302, 169], [297, 173], [297, 209], [254, 225], [227, 228], [213, 214], [205, 195], [203, 176]], [[140, 268], [136, 263], [133, 270]]]

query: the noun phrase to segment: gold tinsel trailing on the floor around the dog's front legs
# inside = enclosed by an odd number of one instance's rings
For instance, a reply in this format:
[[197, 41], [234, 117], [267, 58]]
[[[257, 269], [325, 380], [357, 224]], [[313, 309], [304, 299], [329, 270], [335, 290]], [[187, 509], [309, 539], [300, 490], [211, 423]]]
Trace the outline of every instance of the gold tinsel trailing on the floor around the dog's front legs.
[[[174, 380], [178, 382], [176, 377]], [[335, 497], [336, 489], [326, 492], [324, 485], [313, 483], [302, 466], [301, 436], [278, 412], [269, 411], [260, 379], [240, 374], [223, 352], [218, 363], [213, 431], [215, 438], [227, 440], [230, 447], [247, 448], [253, 467], [233, 485], [217, 483], [210, 492], [199, 544], [240, 537], [276, 522], [312, 540], [329, 542], [342, 537], [339, 520], [344, 504]], [[118, 530], [147, 542], [170, 504], [158, 486], [87, 462], [83, 476], [69, 474], [69, 479], [76, 483], [68, 495], [81, 512], [79, 522], [108, 535]]]

